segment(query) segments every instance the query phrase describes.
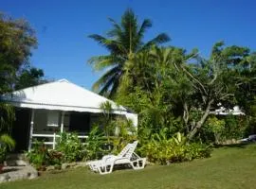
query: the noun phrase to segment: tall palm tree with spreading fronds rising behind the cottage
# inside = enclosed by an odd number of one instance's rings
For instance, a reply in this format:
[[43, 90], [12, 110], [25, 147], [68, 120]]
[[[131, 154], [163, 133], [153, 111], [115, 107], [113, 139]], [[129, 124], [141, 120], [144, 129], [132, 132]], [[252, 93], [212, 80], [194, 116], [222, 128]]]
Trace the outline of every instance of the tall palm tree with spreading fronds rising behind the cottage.
[[170, 41], [167, 34], [161, 33], [153, 40], [143, 43], [145, 32], [152, 27], [152, 22], [145, 19], [140, 25], [137, 16], [132, 9], [127, 9], [121, 17], [120, 24], [109, 19], [113, 28], [107, 32], [106, 37], [98, 34], [90, 35], [97, 43], [108, 51], [108, 55], [91, 58], [89, 63], [97, 71], [105, 73], [93, 85], [93, 90], [99, 94], [112, 97], [119, 88], [120, 79], [124, 73], [127, 60], [132, 59], [137, 52], [149, 48], [153, 44], [161, 44]]

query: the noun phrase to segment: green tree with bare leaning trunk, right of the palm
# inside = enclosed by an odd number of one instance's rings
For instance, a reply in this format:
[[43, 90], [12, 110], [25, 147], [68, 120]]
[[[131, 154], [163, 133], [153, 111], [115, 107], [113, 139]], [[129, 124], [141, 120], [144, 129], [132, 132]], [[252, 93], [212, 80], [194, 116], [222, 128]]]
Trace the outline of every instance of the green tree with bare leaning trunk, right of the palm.
[[225, 47], [221, 42], [213, 45], [209, 60], [194, 54], [192, 59], [196, 60], [195, 63], [180, 64], [181, 72], [191, 79], [193, 97], [197, 96], [197, 104], [193, 102], [192, 108], [200, 112], [196, 123], [192, 125], [189, 139], [204, 126], [210, 110], [216, 109], [219, 103], [227, 109], [237, 103], [235, 94], [242, 81], [240, 71], [248, 67], [248, 53], [248, 48], [235, 45]]

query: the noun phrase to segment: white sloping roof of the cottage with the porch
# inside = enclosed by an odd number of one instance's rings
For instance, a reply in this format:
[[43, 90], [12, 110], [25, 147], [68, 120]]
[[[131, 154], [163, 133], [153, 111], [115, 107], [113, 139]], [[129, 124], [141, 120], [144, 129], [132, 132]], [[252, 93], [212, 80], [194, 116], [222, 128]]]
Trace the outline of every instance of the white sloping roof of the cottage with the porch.
[[114, 113], [126, 114], [129, 112], [113, 101], [66, 79], [4, 94], [1, 98], [16, 107], [75, 112], [102, 112], [101, 103], [109, 101]]

